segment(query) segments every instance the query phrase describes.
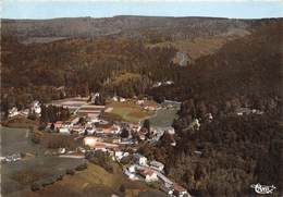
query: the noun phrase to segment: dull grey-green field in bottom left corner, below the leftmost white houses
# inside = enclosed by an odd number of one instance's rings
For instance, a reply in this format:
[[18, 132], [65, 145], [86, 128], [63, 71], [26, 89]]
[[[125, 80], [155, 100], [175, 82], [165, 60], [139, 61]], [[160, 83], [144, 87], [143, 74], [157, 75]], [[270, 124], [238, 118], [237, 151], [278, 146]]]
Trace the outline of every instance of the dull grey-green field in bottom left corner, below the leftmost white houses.
[[21, 160], [13, 163], [3, 163], [1, 167], [1, 194], [10, 196], [14, 193], [29, 190], [34, 182], [41, 182], [64, 174], [66, 169], [74, 169], [84, 160], [35, 157], [29, 160]]

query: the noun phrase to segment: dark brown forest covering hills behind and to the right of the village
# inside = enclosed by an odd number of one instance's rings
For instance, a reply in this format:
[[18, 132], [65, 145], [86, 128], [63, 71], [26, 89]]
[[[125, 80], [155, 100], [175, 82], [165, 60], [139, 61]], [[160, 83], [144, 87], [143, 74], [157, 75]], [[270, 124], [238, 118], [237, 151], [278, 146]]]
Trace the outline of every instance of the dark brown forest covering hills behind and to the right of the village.
[[[274, 184], [279, 193], [282, 23], [137, 16], [3, 21], [1, 108], [94, 91], [179, 100], [176, 147], [164, 135], [157, 147], [142, 147], [143, 153], [164, 162], [165, 173], [196, 196], [249, 196], [256, 183]], [[35, 37], [63, 39], [23, 42]], [[193, 61], [180, 66], [173, 61], [177, 52]], [[173, 84], [156, 86], [167, 81]], [[260, 114], [236, 115], [242, 108]], [[192, 126], [196, 119], [198, 130]]]

